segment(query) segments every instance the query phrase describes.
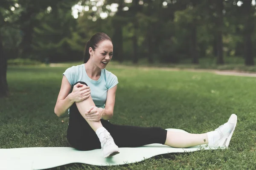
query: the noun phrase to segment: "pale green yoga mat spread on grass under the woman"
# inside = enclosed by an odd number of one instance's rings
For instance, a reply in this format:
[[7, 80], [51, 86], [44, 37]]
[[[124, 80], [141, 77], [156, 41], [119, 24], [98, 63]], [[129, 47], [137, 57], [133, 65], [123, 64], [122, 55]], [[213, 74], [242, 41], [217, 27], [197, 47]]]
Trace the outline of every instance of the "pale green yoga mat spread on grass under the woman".
[[[166, 129], [184, 132], [180, 129]], [[0, 149], [0, 170], [41, 170], [70, 163], [84, 163], [98, 166], [122, 165], [143, 161], [166, 153], [193, 152], [209, 148], [205, 144], [189, 148], [173, 148], [163, 144], [148, 144], [142, 147], [121, 147], [120, 153], [103, 158], [100, 149], [79, 151], [72, 147], [25, 147]]]

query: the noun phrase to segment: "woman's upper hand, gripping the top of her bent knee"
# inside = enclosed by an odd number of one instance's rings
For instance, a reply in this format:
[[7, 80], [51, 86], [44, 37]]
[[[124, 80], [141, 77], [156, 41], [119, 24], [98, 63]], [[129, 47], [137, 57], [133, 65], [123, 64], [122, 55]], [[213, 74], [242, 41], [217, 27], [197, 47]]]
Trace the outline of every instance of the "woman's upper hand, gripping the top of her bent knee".
[[72, 93], [69, 94], [69, 99], [73, 102], [81, 102], [90, 97], [90, 87], [77, 83], [73, 87]]

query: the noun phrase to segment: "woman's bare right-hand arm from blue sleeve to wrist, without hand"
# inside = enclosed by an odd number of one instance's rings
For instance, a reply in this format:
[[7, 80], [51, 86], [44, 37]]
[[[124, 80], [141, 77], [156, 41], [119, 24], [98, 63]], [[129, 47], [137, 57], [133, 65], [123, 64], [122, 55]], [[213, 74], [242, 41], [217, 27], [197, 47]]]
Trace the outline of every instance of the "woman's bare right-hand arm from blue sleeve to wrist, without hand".
[[116, 99], [116, 89], [117, 85], [108, 90], [107, 100], [105, 104], [105, 109], [103, 109], [102, 119], [109, 120], [113, 117], [114, 105]]

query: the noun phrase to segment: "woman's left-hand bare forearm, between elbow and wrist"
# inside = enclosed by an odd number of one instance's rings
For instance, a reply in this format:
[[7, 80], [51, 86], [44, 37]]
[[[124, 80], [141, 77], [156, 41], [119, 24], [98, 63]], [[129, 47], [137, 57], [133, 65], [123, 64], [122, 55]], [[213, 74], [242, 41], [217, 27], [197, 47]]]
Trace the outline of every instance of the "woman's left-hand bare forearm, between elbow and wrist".
[[63, 99], [59, 100], [54, 108], [54, 113], [57, 116], [61, 116], [63, 113], [67, 111], [68, 108], [70, 108], [71, 105], [73, 105], [74, 101], [72, 101], [69, 97], [69, 95]]

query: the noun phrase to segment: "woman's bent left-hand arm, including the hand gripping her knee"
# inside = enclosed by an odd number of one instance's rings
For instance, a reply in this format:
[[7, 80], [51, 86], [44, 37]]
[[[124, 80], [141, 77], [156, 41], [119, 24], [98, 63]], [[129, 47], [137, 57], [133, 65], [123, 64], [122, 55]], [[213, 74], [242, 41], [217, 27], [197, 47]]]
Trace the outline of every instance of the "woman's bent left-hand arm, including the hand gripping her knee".
[[[79, 88], [81, 87], [81, 88]], [[90, 96], [90, 88], [83, 84], [76, 84], [73, 88], [72, 93], [69, 94], [71, 85], [67, 80], [66, 76], [63, 76], [61, 82], [61, 89], [58, 94], [58, 99], [54, 108], [54, 113], [57, 116], [61, 116], [63, 113], [73, 105], [74, 102], [80, 102], [87, 99]]]

